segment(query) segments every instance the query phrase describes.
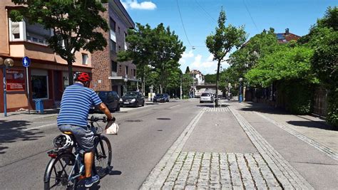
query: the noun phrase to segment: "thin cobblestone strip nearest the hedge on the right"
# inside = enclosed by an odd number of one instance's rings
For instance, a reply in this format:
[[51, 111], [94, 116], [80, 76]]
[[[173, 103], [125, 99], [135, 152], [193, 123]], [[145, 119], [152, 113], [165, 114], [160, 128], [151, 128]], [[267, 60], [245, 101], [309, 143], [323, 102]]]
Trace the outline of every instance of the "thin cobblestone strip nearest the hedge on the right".
[[332, 149], [329, 149], [329, 147], [326, 147], [323, 144], [319, 144], [318, 142], [315, 142], [314, 140], [309, 139], [309, 137], [306, 137], [303, 134], [300, 134], [299, 132], [292, 130], [290, 127], [287, 127], [286, 125], [282, 125], [279, 122], [276, 122], [275, 120], [272, 120], [269, 117], [262, 115], [261, 113], [256, 112], [256, 114], [260, 115], [260, 117], [263, 117], [265, 120], [272, 122], [273, 124], [277, 125], [278, 127], [282, 128], [283, 130], [289, 132], [290, 134], [294, 135], [298, 139], [301, 139], [302, 141], [306, 142], [307, 144], [311, 145], [312, 147], [318, 149], [320, 152], [327, 154], [327, 156], [331, 157], [332, 159], [338, 160], [338, 153], [334, 152], [334, 150], [332, 150]]

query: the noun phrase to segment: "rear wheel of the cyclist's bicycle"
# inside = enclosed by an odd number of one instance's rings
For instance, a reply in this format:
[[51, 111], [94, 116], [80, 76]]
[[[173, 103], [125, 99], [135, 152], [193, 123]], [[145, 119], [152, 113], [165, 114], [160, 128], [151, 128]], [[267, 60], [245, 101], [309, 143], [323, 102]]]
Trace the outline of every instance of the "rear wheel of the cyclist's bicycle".
[[75, 163], [73, 154], [60, 154], [51, 159], [44, 175], [44, 189], [75, 189], [76, 181], [68, 181]]

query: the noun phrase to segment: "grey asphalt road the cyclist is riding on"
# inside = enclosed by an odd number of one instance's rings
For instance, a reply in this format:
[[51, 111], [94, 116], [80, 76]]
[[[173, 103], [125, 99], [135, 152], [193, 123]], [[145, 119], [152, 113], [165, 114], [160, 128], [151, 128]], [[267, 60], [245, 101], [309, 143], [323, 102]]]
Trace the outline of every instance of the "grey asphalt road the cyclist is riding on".
[[[108, 138], [113, 169], [93, 189], [138, 189], [158, 161], [201, 108], [196, 102], [173, 101], [116, 113], [120, 130]], [[56, 116], [2, 121], [0, 128], [1, 189], [42, 189], [43, 172], [60, 132]]]

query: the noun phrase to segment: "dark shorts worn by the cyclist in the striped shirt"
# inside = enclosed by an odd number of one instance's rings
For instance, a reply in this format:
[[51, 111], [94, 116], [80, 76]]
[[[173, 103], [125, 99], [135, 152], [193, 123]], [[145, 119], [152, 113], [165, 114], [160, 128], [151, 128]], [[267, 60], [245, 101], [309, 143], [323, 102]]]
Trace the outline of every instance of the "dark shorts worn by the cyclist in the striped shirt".
[[71, 132], [81, 152], [91, 152], [94, 148], [94, 133], [88, 127], [80, 127], [76, 125], [59, 125], [61, 132]]

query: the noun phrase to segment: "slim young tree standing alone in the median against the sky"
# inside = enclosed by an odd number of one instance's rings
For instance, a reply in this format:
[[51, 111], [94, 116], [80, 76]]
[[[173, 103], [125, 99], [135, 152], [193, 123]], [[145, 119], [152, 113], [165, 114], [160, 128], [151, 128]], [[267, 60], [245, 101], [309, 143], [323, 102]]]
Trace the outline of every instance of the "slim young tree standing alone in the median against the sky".
[[[218, 26], [215, 28], [215, 34], [207, 36], [206, 45], [214, 56], [213, 60], [217, 60], [217, 74], [216, 74], [216, 97], [218, 97], [218, 81], [220, 79], [220, 63], [224, 61], [225, 56], [233, 47], [240, 48], [245, 42], [244, 27], [236, 28], [229, 24], [225, 26], [226, 16], [223, 9], [220, 11], [218, 17]], [[216, 101], [218, 106], [218, 101]]]

